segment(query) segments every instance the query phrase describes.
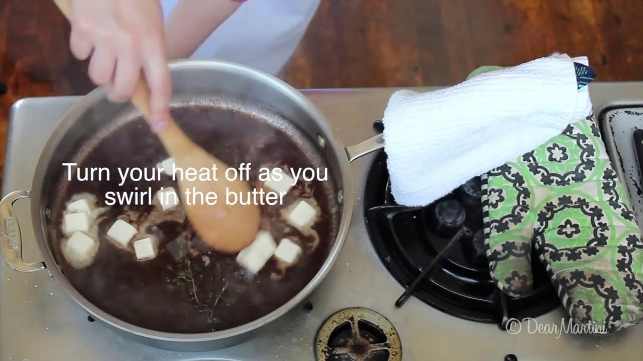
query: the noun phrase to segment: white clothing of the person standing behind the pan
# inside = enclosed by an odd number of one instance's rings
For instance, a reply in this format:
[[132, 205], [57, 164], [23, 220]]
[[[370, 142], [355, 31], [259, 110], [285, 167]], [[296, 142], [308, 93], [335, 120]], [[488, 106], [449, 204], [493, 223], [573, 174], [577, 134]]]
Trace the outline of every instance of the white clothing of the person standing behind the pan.
[[[161, 0], [164, 17], [178, 1]], [[192, 58], [235, 62], [277, 75], [302, 40], [319, 4], [320, 0], [248, 0]]]

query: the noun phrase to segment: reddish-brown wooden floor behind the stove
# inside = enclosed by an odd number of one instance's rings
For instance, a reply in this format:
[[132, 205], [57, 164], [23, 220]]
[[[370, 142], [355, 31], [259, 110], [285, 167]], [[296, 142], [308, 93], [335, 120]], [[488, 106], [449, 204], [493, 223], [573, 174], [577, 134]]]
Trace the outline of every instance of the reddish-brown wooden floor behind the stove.
[[[643, 80], [641, 19], [641, 0], [321, 0], [282, 78], [300, 88], [450, 85], [478, 66], [563, 51], [588, 56], [597, 80]], [[51, 0], [0, 0], [0, 160], [14, 101], [93, 88], [68, 34]]]

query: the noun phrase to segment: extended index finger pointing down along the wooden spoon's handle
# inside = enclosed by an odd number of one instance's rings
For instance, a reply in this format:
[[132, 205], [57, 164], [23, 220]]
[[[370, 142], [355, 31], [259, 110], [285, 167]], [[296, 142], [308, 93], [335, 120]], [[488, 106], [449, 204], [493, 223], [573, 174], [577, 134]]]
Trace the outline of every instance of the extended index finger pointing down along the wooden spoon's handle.
[[145, 78], [150, 87], [150, 127], [152, 132], [161, 132], [170, 118], [172, 76], [165, 60], [165, 51], [156, 47], [143, 64]]

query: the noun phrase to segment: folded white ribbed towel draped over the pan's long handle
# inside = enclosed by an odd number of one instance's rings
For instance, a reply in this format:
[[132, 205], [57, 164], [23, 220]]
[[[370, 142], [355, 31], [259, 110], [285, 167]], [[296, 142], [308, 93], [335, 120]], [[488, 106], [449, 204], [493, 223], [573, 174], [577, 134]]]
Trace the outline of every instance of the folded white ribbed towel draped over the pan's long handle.
[[438, 91], [395, 92], [383, 137], [397, 204], [427, 206], [588, 116], [574, 62], [589, 66], [586, 57], [555, 54]]

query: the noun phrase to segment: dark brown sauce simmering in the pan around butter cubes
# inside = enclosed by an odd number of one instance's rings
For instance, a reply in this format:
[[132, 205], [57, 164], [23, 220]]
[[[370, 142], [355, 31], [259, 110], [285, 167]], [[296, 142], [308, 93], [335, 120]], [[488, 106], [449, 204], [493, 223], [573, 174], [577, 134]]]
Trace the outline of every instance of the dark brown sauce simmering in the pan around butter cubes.
[[[235, 167], [251, 163], [252, 184], [257, 182], [260, 166], [325, 166], [312, 148], [293, 141], [293, 134], [251, 114], [210, 106], [179, 107], [172, 112], [195, 143], [225, 163]], [[122, 321], [173, 333], [202, 333], [246, 324], [272, 312], [300, 292], [318, 272], [334, 242], [337, 210], [331, 198], [332, 186], [328, 182], [300, 180], [284, 198], [283, 205], [262, 207], [262, 229], [270, 231], [277, 243], [288, 237], [303, 246], [302, 258], [291, 268], [280, 267], [273, 258], [257, 275], [249, 276], [235, 261], [235, 254], [219, 254], [203, 247], [185, 218], [168, 217], [158, 224], [145, 225], [147, 214], [154, 207], [146, 204], [127, 206], [127, 209], [109, 207], [98, 225], [100, 246], [95, 260], [89, 267], [75, 269], [60, 250], [64, 239], [60, 229], [62, 212], [70, 197], [89, 192], [97, 197], [98, 207], [102, 207], [108, 191], [152, 187], [156, 192], [161, 186], [176, 189], [176, 182], [165, 174], [160, 180], [128, 180], [119, 186], [119, 167], [151, 170], [168, 157], [141, 118], [124, 123], [95, 141], [89, 149], [75, 160], [78, 167], [109, 168], [111, 180], [80, 182], [72, 177], [68, 181], [64, 174], [60, 197], [51, 206], [53, 218], [48, 231], [55, 258], [71, 285], [98, 308]], [[222, 177], [221, 170], [217, 174]], [[280, 218], [280, 209], [294, 204], [300, 197], [314, 198], [321, 211], [313, 227], [319, 236], [314, 249], [311, 249], [314, 242], [311, 236], [287, 226]], [[219, 195], [219, 202], [224, 201], [224, 195]], [[145, 225], [147, 232], [158, 237], [159, 254], [154, 260], [138, 261], [132, 249], [119, 249], [105, 238], [116, 217], [125, 212], [138, 215], [131, 216], [132, 222]], [[185, 243], [181, 244], [186, 245], [185, 255], [179, 261], [167, 247], [177, 238], [183, 239]]]

